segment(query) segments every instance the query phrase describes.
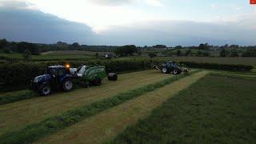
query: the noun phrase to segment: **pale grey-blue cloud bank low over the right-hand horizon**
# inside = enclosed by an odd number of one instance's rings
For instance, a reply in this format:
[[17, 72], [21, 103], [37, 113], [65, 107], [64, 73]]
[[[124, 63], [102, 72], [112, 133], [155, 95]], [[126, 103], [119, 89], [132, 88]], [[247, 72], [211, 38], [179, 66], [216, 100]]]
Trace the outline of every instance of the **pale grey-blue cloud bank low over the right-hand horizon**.
[[[256, 22], [252, 23], [256, 24]], [[239, 22], [151, 21], [132, 26], [113, 26], [102, 33], [102, 43], [168, 46], [197, 46], [202, 42], [214, 45], [255, 45], [256, 29]]]

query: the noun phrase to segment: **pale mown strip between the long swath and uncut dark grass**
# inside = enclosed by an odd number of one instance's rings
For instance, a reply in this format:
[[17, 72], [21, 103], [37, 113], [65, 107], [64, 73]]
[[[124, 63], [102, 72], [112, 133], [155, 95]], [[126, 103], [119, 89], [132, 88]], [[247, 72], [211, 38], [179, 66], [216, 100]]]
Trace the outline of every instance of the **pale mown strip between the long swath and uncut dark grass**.
[[134, 124], [138, 118], [145, 118], [156, 106], [178, 94], [178, 91], [203, 78], [207, 71], [202, 71], [172, 82], [158, 90], [142, 94], [121, 105], [104, 110], [93, 117], [86, 118], [57, 133], [40, 139], [37, 143], [100, 143], [122, 132], [126, 126]]

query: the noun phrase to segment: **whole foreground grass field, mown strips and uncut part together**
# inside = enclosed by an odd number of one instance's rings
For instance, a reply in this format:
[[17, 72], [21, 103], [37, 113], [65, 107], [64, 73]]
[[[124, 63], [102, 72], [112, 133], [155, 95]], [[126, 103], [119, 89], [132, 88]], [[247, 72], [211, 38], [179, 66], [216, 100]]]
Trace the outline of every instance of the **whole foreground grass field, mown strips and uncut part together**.
[[[253, 73], [218, 70], [120, 74], [102, 86], [1, 105], [0, 143], [254, 142], [255, 85]], [[82, 109], [91, 112], [72, 122]]]

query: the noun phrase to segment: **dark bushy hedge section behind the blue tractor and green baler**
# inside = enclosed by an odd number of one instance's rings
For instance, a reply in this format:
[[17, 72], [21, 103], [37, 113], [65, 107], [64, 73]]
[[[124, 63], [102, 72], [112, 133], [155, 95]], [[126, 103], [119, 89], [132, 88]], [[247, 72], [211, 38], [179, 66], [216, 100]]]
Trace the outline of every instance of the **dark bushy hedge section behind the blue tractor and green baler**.
[[74, 62], [2, 62], [0, 65], [0, 84], [29, 83], [32, 78], [44, 74], [46, 66], [64, 65], [73, 67], [81, 65], [106, 66], [106, 72], [122, 72], [128, 70], [146, 70], [150, 61], [144, 60], [108, 60], [108, 61], [74, 61]]

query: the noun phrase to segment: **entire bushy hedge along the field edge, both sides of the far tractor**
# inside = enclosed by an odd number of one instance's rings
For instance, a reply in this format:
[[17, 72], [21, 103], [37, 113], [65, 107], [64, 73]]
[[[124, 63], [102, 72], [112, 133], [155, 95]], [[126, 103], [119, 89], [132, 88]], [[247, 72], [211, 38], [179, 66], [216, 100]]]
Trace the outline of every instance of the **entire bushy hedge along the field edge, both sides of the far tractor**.
[[[106, 66], [106, 72], [123, 72], [130, 70], [146, 70], [151, 67], [150, 59], [141, 60], [93, 60], [93, 61], [70, 61], [72, 67], [81, 65], [102, 65]], [[161, 63], [163, 61], [154, 61]], [[0, 84], [21, 84], [30, 83], [30, 80], [37, 75], [44, 74], [46, 66], [64, 65], [62, 62], [1, 62], [0, 64]], [[253, 66], [245, 65], [226, 65], [217, 63], [198, 63], [198, 62], [179, 62], [188, 67], [214, 69], [214, 70], [239, 70], [250, 71]]]

